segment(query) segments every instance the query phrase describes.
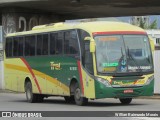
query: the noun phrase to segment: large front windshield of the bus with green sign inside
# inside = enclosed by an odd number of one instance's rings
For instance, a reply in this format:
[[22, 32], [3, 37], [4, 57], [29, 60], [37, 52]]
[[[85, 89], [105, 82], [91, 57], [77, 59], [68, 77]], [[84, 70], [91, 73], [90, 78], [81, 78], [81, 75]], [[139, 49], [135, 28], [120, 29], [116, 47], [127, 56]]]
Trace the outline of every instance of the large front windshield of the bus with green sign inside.
[[146, 35], [98, 35], [98, 73], [145, 73], [153, 71], [152, 53]]

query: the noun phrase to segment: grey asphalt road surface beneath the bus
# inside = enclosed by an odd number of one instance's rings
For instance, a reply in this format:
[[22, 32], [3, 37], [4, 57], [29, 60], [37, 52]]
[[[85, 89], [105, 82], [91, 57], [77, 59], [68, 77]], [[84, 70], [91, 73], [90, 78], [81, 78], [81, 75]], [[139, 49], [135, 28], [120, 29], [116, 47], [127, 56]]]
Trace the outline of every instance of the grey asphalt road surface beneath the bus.
[[[0, 93], [0, 111], [160, 111], [160, 99], [133, 99], [130, 105], [122, 105], [118, 99], [91, 100], [87, 106], [68, 104], [63, 97], [50, 97], [43, 103], [27, 103], [25, 94]], [[1, 120], [2, 118], [0, 118]], [[5, 118], [6, 119], [6, 118]], [[13, 119], [13, 118], [12, 118]], [[44, 118], [32, 118], [43, 120]], [[47, 118], [51, 119], [51, 118]], [[57, 120], [75, 120], [70, 117], [56, 117]], [[81, 118], [76, 118], [80, 120]], [[97, 120], [97, 117], [83, 117], [83, 120]], [[160, 120], [156, 117], [113, 117], [112, 120]], [[17, 120], [17, 118], [15, 118]], [[55, 118], [54, 118], [55, 120]], [[110, 120], [99, 117], [98, 120]]]

